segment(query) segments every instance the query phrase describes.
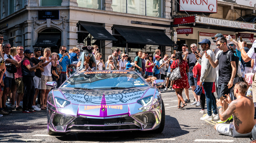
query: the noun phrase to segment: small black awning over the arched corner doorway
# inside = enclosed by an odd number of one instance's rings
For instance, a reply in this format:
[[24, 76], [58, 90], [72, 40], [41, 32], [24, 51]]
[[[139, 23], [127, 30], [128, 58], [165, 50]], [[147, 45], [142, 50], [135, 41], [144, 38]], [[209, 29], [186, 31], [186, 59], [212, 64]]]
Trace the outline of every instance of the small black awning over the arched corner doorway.
[[33, 47], [55, 47], [60, 34], [40, 34]]

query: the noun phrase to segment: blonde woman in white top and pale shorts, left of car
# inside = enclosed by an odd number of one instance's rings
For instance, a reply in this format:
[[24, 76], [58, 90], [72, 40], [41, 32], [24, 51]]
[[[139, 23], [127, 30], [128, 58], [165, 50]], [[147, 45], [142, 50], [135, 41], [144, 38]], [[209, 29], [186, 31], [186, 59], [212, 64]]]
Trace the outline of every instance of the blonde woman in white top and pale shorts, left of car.
[[57, 57], [53, 59], [53, 58], [50, 58], [50, 55], [51, 55], [51, 50], [49, 48], [45, 48], [44, 56], [40, 58], [40, 60], [43, 60], [43, 67], [44, 67], [44, 71], [42, 72], [42, 75], [41, 75], [41, 95], [40, 95], [42, 110], [45, 110], [46, 108], [47, 96], [51, 90], [51, 87], [46, 86], [46, 82], [53, 81], [51, 67], [52, 65], [53, 67], [56, 67], [57, 65], [57, 62], [56, 62]]

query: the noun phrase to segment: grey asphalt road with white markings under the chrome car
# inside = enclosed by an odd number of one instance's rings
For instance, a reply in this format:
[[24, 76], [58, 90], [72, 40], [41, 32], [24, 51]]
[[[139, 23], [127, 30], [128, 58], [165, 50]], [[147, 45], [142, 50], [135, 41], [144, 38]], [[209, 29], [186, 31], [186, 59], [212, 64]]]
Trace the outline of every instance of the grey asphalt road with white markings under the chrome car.
[[[184, 92], [183, 92], [184, 94]], [[189, 90], [191, 101], [194, 99]], [[185, 97], [183, 95], [183, 97]], [[202, 121], [200, 107], [188, 104], [178, 109], [175, 92], [162, 92], [165, 104], [165, 128], [161, 134], [148, 132], [79, 133], [76, 135], [50, 136], [47, 134], [46, 110], [21, 113], [13, 110], [11, 115], [0, 117], [0, 142], [50, 142], [50, 143], [97, 143], [97, 142], [237, 142], [248, 143], [250, 139], [220, 135], [214, 130], [214, 121]], [[205, 106], [206, 109], [206, 106]], [[206, 110], [205, 110], [206, 112]]]

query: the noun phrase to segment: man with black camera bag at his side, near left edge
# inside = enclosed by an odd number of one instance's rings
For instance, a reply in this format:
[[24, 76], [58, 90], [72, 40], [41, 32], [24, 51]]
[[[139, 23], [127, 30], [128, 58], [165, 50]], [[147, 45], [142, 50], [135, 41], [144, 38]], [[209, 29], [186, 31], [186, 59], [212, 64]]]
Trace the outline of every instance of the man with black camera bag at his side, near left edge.
[[[5, 43], [3, 48], [4, 48], [4, 51], [5, 51], [4, 60], [5, 60], [6, 67], [10, 67], [11, 64], [15, 65], [15, 66], [18, 65], [18, 62], [15, 61], [15, 59], [11, 55], [9, 55], [10, 50], [11, 50], [11, 44], [10, 43]], [[6, 77], [4, 79], [4, 93], [3, 93], [3, 96], [2, 96], [2, 106], [3, 106], [3, 109], [6, 112], [11, 113], [12, 111], [8, 110], [8, 108], [6, 107], [5, 103], [6, 103], [6, 100], [7, 100], [7, 95], [8, 94], [11, 95], [11, 93], [10, 93], [11, 80], [14, 77], [13, 77], [13, 74], [10, 73], [10, 71], [6, 70], [5, 73], [6, 73]]]

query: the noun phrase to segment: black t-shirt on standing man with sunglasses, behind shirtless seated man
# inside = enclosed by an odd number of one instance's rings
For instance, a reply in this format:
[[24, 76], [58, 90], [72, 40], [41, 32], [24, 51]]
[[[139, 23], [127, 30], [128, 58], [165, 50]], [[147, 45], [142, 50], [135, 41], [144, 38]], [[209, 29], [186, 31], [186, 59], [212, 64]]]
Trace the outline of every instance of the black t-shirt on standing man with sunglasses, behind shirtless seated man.
[[[219, 60], [219, 80], [218, 85], [221, 84], [228, 84], [231, 74], [232, 74], [232, 68], [230, 69], [228, 67], [228, 61], [227, 61], [227, 52], [230, 50], [227, 50], [226, 52], [222, 52], [217, 57], [217, 60]], [[235, 55], [233, 52], [229, 53], [229, 61], [235, 61]]]

